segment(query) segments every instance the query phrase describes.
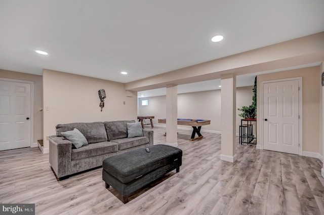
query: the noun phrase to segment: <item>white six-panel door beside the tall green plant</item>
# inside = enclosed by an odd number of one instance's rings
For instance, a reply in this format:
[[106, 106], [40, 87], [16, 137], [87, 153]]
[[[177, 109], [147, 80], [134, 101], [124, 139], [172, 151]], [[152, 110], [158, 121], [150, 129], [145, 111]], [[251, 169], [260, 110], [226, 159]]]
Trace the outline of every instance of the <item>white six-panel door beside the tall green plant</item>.
[[298, 80], [263, 84], [264, 149], [299, 154]]

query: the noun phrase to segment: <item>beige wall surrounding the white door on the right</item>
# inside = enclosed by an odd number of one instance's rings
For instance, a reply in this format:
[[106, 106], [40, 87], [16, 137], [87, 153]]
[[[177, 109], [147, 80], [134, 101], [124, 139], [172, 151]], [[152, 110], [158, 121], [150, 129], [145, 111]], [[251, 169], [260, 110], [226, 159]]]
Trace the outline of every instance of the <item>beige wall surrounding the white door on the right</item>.
[[[319, 153], [319, 91], [320, 91], [320, 83], [318, 79], [320, 79], [318, 75], [319, 67], [308, 67], [302, 69], [294, 69], [283, 72], [275, 72], [258, 75], [258, 92], [261, 92], [262, 81], [266, 80], [276, 80], [276, 79], [284, 79], [291, 77], [302, 77], [302, 98], [303, 98], [303, 151], [307, 152], [316, 152]], [[257, 94], [257, 118], [258, 120], [258, 136], [261, 137], [261, 94]], [[261, 141], [261, 140], [260, 140]], [[261, 143], [258, 141], [259, 143]]]

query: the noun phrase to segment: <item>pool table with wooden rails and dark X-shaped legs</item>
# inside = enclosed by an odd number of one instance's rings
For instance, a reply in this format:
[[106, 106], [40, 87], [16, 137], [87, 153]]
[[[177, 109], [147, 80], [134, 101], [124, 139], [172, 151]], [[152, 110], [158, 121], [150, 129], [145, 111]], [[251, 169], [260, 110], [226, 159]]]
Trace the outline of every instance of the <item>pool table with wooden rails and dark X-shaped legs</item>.
[[[167, 119], [158, 119], [158, 123], [167, 123]], [[194, 140], [200, 140], [204, 136], [200, 133], [201, 125], [210, 124], [211, 120], [206, 119], [178, 119], [179, 125], [189, 125], [192, 126], [192, 134], [191, 134], [191, 141]], [[198, 137], [194, 137], [195, 135], [198, 135]]]

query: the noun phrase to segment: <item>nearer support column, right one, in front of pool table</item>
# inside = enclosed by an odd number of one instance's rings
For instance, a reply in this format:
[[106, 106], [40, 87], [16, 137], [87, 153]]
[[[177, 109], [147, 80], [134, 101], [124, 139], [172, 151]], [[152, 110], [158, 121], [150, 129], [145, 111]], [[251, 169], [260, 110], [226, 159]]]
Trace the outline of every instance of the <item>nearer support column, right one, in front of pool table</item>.
[[221, 160], [236, 160], [236, 75], [221, 77]]

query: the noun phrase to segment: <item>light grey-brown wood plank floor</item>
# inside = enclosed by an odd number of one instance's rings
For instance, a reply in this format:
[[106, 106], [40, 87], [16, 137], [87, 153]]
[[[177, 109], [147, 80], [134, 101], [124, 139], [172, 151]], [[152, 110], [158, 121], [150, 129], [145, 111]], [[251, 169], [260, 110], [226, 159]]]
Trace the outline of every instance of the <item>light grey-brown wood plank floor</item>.
[[[154, 143], [165, 142], [155, 127]], [[57, 181], [38, 148], [0, 152], [0, 202], [35, 203], [36, 214], [324, 214], [322, 163], [315, 158], [237, 144], [237, 161], [220, 160], [220, 135], [188, 141], [180, 173], [141, 189], [123, 204], [105, 189], [102, 168]]]

